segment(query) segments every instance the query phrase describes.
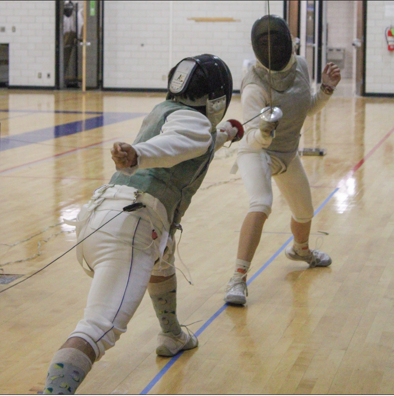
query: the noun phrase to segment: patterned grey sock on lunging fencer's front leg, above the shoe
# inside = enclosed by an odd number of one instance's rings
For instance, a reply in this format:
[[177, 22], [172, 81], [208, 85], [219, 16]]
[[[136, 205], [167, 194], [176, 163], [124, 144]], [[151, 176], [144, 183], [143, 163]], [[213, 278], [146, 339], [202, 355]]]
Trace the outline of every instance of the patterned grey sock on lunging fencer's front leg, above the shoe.
[[176, 318], [176, 276], [164, 282], [149, 283], [148, 292], [163, 333], [171, 331], [178, 335], [181, 326]]

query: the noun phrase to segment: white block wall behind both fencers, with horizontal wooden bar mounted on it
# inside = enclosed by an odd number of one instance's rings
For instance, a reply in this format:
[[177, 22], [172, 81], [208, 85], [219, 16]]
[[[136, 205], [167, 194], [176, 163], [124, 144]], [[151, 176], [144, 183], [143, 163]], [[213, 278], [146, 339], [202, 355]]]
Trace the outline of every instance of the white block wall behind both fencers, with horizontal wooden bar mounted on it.
[[[104, 87], [167, 88], [167, 74], [186, 56], [212, 53], [229, 66], [240, 89], [242, 64], [253, 59], [250, 30], [267, 13], [264, 1], [106, 1]], [[270, 1], [283, 16], [283, 1]], [[196, 22], [228, 17], [236, 22]]]

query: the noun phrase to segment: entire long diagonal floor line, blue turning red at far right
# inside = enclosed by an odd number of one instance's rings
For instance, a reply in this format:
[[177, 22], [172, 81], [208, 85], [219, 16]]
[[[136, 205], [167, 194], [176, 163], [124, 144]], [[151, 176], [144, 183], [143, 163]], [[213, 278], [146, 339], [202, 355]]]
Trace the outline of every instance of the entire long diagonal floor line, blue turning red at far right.
[[[376, 144], [364, 157], [361, 161], [359, 161], [337, 184], [337, 188], [334, 189], [330, 195], [324, 200], [324, 202], [314, 211], [314, 215], [318, 214], [323, 207], [330, 201], [332, 196], [340, 189], [340, 186], [346, 182], [346, 180], [349, 179], [349, 177], [352, 177], [354, 172], [356, 172], [368, 159], [369, 157], [387, 140], [387, 138], [394, 132], [394, 128], [392, 128], [381, 140], [379, 143]], [[269, 264], [272, 263], [273, 260], [275, 260], [278, 255], [283, 251], [283, 249], [293, 240], [293, 236], [289, 237], [289, 239], [279, 248], [277, 252], [275, 252], [271, 258], [257, 271], [251, 276], [249, 281], [246, 283], [248, 286], [250, 283], [253, 282], [257, 276], [259, 276], [265, 268], [269, 266]], [[226, 308], [228, 307], [228, 304], [224, 304], [221, 308], [219, 308], [194, 334], [196, 336], [199, 336]], [[149, 382], [149, 384], [141, 391], [140, 394], [147, 394], [154, 385], [159, 382], [164, 374], [172, 367], [172, 365], [183, 355], [184, 351], [179, 352], [176, 354], [174, 357], [172, 357], [167, 364], [155, 375], [155, 377]]]

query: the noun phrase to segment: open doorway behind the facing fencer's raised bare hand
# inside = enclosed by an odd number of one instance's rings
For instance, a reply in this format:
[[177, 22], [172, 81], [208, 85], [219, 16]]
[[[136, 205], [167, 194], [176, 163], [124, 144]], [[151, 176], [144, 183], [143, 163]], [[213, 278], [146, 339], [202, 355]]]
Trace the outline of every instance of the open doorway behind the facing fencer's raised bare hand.
[[[298, 53], [308, 63], [312, 83], [321, 82], [327, 62], [336, 63], [342, 74], [337, 94], [364, 94], [365, 0], [299, 0], [286, 2], [290, 31], [298, 32]], [[298, 15], [297, 15], [298, 11]]]

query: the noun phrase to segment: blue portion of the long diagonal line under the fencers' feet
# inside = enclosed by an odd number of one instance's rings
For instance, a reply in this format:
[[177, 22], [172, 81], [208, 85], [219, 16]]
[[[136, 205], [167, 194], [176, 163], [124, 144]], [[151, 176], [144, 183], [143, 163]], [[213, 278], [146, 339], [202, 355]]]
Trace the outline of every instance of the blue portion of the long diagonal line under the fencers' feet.
[[[338, 190], [339, 188], [336, 188], [334, 191], [331, 192], [330, 195], [328, 195], [325, 201], [314, 211], [314, 215], [318, 214], [323, 209], [323, 207]], [[273, 260], [278, 257], [278, 255], [292, 241], [292, 239], [293, 236], [291, 236], [256, 273], [254, 273], [254, 275], [247, 282], [248, 286], [272, 263]], [[223, 304], [223, 306], [220, 307], [194, 334], [196, 336], [199, 336], [227, 307], [227, 303]], [[153, 388], [153, 386], [155, 386], [157, 382], [162, 379], [163, 375], [171, 368], [171, 366], [182, 356], [183, 352], [184, 351], [172, 357], [169, 362], [155, 375], [153, 380], [150, 381], [149, 384], [142, 390], [140, 394], [147, 394]]]

